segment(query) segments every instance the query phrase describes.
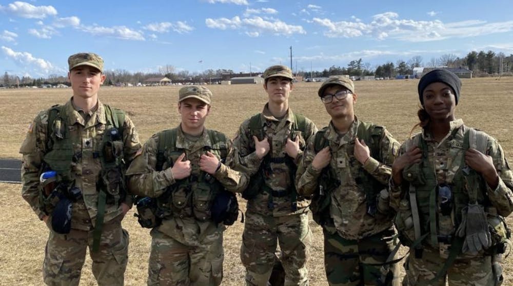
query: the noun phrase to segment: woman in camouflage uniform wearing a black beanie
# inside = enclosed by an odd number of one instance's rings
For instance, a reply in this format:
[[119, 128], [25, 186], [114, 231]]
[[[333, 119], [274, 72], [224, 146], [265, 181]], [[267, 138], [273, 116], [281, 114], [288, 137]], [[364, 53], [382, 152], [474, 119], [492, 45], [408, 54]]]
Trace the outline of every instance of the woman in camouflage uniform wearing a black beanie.
[[[491, 136], [456, 119], [461, 81], [443, 69], [419, 81], [422, 132], [392, 166], [390, 205], [410, 247], [405, 285], [499, 285], [513, 210], [513, 173]], [[472, 135], [474, 134], [474, 135]]]

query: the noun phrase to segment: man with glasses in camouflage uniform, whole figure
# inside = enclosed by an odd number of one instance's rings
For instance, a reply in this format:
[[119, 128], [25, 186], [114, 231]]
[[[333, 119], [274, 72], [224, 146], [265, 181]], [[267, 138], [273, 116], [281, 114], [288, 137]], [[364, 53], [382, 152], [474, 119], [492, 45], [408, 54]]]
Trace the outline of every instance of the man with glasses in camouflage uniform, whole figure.
[[[354, 115], [357, 94], [350, 79], [330, 77], [319, 96], [331, 122], [308, 140], [296, 185], [298, 193], [313, 195], [312, 214], [324, 232], [328, 282], [397, 285], [397, 267], [382, 264], [393, 249], [394, 212], [388, 209], [386, 184], [399, 143], [384, 127]], [[331, 175], [324, 177], [324, 172]], [[326, 183], [332, 187], [320, 188]], [[314, 203], [325, 210], [321, 213]]]

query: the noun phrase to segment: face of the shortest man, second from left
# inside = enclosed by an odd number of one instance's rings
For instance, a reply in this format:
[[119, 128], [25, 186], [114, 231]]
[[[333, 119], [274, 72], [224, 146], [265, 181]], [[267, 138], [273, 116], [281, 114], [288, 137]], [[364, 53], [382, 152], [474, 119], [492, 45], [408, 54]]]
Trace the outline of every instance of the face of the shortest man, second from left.
[[186, 98], [178, 104], [182, 116], [182, 130], [191, 135], [201, 134], [210, 106], [197, 98]]

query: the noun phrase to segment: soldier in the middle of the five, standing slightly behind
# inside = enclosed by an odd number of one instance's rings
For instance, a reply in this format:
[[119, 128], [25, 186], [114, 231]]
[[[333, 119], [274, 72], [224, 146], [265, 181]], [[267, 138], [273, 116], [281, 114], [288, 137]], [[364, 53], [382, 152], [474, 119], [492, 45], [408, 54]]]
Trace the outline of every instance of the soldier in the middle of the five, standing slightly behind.
[[233, 141], [240, 151], [240, 164], [234, 168], [252, 176], [243, 194], [249, 199], [241, 247], [246, 285], [267, 285], [277, 242], [282, 251], [285, 285], [308, 285], [309, 200], [295, 192], [294, 174], [305, 140], [317, 128], [288, 106], [293, 88], [289, 68], [271, 66], [264, 78], [269, 101], [262, 113], [242, 123]]

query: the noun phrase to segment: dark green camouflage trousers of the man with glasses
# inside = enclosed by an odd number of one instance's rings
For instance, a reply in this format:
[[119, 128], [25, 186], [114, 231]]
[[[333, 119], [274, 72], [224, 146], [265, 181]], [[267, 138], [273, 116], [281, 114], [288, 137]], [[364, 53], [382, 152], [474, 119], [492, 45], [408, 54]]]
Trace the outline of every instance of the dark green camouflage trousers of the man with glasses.
[[[393, 228], [359, 240], [342, 238], [334, 228], [323, 228], [324, 264], [331, 286], [398, 286], [399, 267], [382, 268], [394, 248]], [[380, 282], [385, 278], [385, 283]]]

